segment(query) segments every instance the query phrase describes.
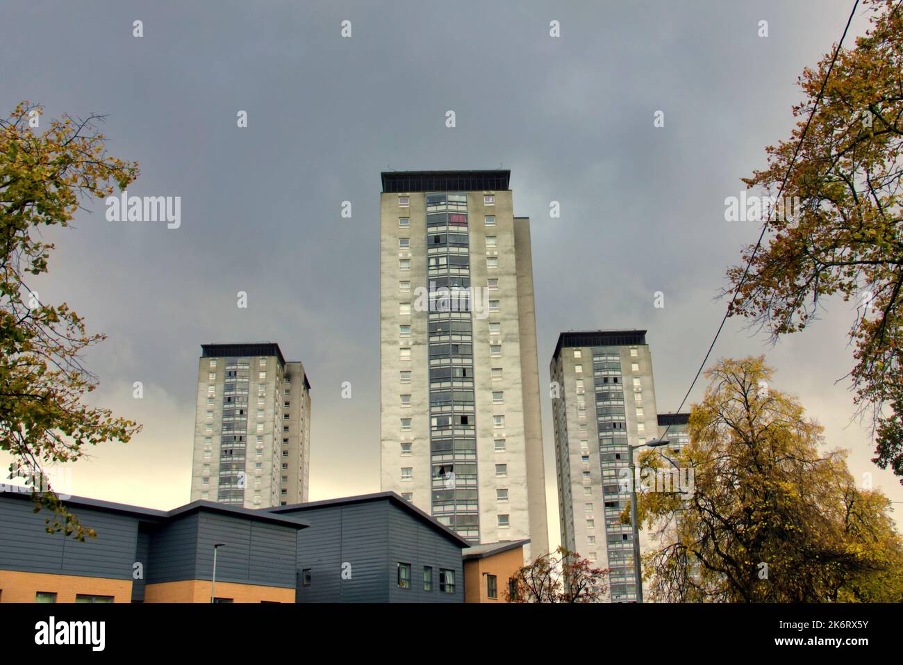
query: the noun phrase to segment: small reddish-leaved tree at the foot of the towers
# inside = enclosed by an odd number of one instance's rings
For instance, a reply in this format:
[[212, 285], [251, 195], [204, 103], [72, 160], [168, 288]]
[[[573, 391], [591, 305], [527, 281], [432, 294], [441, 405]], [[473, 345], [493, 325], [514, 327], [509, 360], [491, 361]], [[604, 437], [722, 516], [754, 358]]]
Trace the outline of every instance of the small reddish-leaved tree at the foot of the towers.
[[595, 603], [608, 592], [608, 574], [559, 546], [520, 567], [506, 599], [508, 603]]

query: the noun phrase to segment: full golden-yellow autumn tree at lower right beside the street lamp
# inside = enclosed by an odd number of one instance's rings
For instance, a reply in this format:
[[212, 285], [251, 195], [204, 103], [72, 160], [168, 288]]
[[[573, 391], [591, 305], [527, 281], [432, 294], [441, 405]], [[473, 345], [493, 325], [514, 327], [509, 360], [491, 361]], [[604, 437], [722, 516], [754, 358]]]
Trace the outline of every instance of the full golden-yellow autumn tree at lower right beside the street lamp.
[[[638, 519], [656, 547], [644, 575], [666, 602], [900, 602], [903, 540], [888, 499], [857, 488], [845, 451], [771, 386], [764, 359], [705, 374], [689, 445], [675, 464], [692, 492], [644, 492]], [[665, 464], [649, 452], [641, 464]]]

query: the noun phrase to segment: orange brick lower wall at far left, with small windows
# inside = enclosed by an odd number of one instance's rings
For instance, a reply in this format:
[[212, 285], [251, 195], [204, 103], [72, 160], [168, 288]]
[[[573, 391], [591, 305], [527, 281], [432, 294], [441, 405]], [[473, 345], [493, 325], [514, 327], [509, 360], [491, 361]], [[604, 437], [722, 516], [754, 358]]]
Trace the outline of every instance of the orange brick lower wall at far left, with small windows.
[[0, 570], [0, 603], [33, 603], [39, 592], [55, 593], [57, 603], [75, 603], [76, 594], [112, 595], [114, 603], [132, 602], [132, 580]]

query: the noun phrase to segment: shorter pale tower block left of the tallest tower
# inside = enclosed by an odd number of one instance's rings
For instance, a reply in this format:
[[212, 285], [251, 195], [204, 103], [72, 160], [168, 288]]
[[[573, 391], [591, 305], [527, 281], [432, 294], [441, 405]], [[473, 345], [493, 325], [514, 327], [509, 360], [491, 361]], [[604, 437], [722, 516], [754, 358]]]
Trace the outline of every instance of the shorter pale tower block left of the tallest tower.
[[191, 501], [307, 501], [311, 384], [274, 342], [201, 345]]

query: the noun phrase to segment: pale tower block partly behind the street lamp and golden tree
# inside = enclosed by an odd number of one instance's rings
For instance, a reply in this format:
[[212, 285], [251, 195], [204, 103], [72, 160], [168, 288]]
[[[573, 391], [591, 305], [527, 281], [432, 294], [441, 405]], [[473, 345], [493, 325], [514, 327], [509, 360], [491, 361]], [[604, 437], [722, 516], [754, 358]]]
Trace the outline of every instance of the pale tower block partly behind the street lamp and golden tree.
[[628, 445], [659, 433], [646, 331], [561, 333], [550, 376], [562, 544], [610, 568], [612, 602], [634, 601], [633, 534], [620, 513]]

